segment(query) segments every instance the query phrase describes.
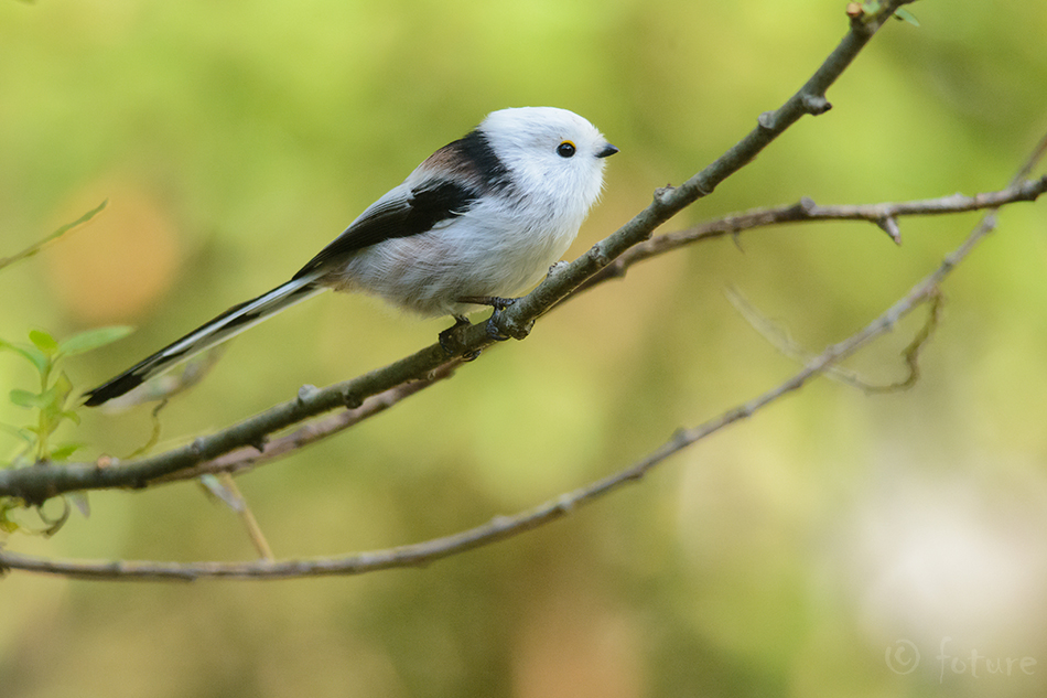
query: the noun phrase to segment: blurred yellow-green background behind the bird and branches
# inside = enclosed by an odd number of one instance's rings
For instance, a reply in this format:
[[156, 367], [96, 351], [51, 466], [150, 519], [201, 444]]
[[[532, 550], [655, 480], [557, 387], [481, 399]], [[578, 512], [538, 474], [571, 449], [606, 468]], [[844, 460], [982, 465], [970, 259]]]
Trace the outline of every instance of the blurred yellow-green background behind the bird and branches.
[[[570, 253], [802, 84], [843, 2], [0, 3], [0, 336], [130, 323], [84, 388], [285, 280], [490, 110], [552, 105], [622, 150]], [[925, 1], [689, 222], [1003, 186], [1047, 128], [1047, 3]], [[1040, 169], [1043, 171], [1043, 169]], [[789, 226], [634, 269], [380, 418], [238, 482], [278, 557], [384, 548], [611, 473], [864, 325], [978, 217]], [[907, 393], [820, 380], [565, 520], [427, 569], [267, 583], [0, 581], [0, 696], [1029, 696], [1047, 689], [1047, 208], [945, 289]], [[849, 363], [904, 374], [914, 316]], [[431, 343], [447, 321], [326, 294], [230, 345], [163, 412], [171, 445]], [[33, 376], [0, 356], [0, 385]], [[0, 405], [0, 421], [25, 415]], [[125, 455], [148, 409], [71, 439]], [[3, 449], [14, 444], [2, 443]], [[14, 550], [249, 559], [193, 484], [94, 493]], [[919, 653], [917, 661], [916, 652]], [[975, 661], [970, 662], [975, 652]], [[991, 674], [986, 659], [1032, 658]], [[953, 661], [962, 658], [962, 661]], [[997, 664], [997, 668], [1006, 666]], [[905, 673], [911, 669], [909, 673]]]

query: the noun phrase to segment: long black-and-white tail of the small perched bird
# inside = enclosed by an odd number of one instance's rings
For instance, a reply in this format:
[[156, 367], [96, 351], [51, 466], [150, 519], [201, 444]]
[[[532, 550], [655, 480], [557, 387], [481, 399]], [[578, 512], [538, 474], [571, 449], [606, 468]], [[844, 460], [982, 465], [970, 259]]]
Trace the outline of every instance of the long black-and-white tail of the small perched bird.
[[104, 383], [94, 390], [87, 391], [85, 394], [87, 399], [84, 405], [97, 407], [112, 398], [120, 397], [201, 352], [220, 344], [267, 318], [325, 290], [324, 287], [316, 286], [314, 281], [314, 277], [292, 279], [268, 293], [262, 293], [258, 298], [234, 305], [181, 340], [134, 364], [119, 376]]

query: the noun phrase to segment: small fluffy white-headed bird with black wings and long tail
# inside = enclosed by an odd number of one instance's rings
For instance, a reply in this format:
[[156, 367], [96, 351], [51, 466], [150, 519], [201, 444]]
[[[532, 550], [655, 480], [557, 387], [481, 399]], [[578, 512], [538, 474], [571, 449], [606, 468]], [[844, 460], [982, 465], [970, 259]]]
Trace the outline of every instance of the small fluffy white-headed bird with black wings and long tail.
[[375, 296], [422, 318], [450, 315], [455, 324], [441, 337], [484, 305], [498, 312], [566, 251], [616, 152], [566, 109], [493, 111], [365, 208], [290, 281], [88, 390], [84, 405], [125, 395], [327, 289]]

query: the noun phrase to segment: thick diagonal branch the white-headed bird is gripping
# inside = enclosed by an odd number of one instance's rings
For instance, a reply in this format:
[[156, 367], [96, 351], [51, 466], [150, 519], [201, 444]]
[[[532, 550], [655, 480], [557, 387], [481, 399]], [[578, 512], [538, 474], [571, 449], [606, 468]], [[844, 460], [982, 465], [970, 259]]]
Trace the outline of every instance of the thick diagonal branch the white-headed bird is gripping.
[[[648, 239], [670, 217], [710, 194], [724, 179], [751, 162], [775, 138], [803, 115], [823, 114], [830, 108], [825, 90], [859, 55], [894, 11], [911, 0], [888, 0], [873, 14], [849, 13], [850, 31], [810, 79], [780, 108], [757, 119], [757, 126], [711, 165], [677, 189], [656, 192], [655, 201], [630, 222], [597, 243], [581, 258], [559, 268], [535, 291], [500, 315], [505, 334], [522, 339], [535, 320], [553, 308], [601, 269], [630, 247]], [[79, 490], [144, 487], [149, 483], [182, 470], [195, 468], [246, 445], [258, 450], [269, 437], [294, 423], [342, 407], [358, 407], [366, 398], [390, 390], [410, 380], [424, 379], [431, 372], [473, 354], [493, 341], [478, 323], [458, 333], [458, 352], [449, 357], [439, 344], [425, 347], [384, 368], [327, 388], [300, 394], [294, 400], [277, 405], [219, 432], [199, 437], [191, 444], [133, 462], [115, 459], [95, 463], [68, 463], [0, 471], [0, 496], [18, 497], [40, 504], [50, 497]]]

